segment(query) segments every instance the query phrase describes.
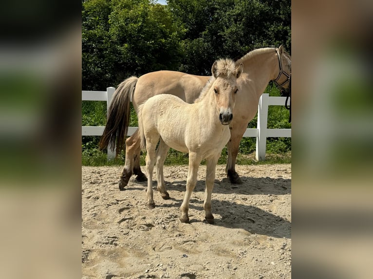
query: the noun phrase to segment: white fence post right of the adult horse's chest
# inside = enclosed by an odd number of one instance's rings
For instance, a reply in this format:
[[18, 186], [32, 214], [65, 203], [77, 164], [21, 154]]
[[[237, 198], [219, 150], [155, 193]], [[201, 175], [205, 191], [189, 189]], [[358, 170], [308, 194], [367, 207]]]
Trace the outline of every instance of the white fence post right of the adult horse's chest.
[[255, 157], [258, 161], [265, 160], [265, 145], [267, 141], [269, 94], [264, 93], [259, 99], [258, 105], [258, 137]]

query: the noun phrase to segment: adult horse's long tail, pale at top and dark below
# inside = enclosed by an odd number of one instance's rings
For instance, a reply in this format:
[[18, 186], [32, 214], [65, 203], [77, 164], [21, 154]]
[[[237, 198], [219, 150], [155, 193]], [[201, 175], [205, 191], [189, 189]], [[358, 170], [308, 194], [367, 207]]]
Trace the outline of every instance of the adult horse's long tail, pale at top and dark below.
[[108, 145], [115, 146], [115, 143], [116, 154], [123, 149], [131, 118], [132, 90], [137, 80], [138, 77], [131, 76], [116, 88], [108, 111], [108, 121], [99, 142], [100, 149], [104, 149]]

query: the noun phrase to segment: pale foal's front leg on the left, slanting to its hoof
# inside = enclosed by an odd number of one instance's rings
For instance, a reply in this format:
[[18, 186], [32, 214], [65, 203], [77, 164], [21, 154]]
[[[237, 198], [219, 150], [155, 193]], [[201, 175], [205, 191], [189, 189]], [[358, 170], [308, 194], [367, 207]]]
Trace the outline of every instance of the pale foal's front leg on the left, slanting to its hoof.
[[181, 204], [181, 216], [180, 221], [182, 223], [190, 223], [188, 217], [189, 200], [190, 196], [196, 186], [198, 167], [201, 163], [201, 157], [194, 152], [189, 152], [189, 170], [188, 177], [186, 178], [186, 192], [183, 203]]

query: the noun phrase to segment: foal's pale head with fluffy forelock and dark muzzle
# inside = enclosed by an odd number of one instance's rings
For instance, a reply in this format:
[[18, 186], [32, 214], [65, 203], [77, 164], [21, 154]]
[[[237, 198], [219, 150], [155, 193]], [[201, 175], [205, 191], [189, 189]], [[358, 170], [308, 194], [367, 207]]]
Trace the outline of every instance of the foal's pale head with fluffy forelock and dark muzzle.
[[212, 65], [211, 72], [215, 81], [211, 87], [219, 110], [219, 120], [223, 125], [228, 125], [233, 119], [238, 92], [237, 79], [242, 70], [242, 63], [235, 67], [234, 61], [227, 58], [219, 59]]

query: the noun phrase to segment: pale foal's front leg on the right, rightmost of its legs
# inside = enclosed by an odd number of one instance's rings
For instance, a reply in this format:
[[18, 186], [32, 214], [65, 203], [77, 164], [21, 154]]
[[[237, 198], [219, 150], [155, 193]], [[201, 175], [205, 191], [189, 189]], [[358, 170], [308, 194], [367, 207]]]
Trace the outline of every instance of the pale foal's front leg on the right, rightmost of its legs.
[[212, 194], [212, 189], [214, 188], [215, 169], [216, 169], [216, 164], [218, 163], [219, 157], [220, 157], [220, 153], [219, 153], [219, 156], [217, 156], [216, 158], [207, 159], [207, 165], [206, 165], [206, 188], [205, 188], [204, 209], [205, 209], [205, 220], [208, 224], [214, 224], [214, 216], [211, 213], [211, 194]]

